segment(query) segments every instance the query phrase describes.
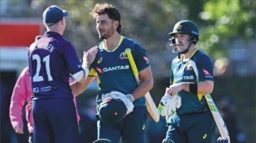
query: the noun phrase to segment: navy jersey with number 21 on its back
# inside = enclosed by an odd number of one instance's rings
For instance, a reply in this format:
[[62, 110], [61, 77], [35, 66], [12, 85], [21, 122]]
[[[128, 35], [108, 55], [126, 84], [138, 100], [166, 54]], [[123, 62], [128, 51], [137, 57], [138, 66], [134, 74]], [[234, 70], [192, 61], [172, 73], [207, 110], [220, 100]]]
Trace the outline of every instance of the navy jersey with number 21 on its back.
[[58, 33], [45, 32], [29, 47], [32, 99], [73, 98], [68, 77], [81, 70], [73, 45]]

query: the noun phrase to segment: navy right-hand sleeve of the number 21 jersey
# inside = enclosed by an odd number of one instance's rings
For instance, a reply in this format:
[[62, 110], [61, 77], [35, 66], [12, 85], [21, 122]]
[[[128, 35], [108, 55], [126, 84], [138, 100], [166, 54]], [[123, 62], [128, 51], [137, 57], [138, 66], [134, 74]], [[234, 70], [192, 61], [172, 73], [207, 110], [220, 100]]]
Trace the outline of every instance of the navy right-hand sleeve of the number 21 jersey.
[[74, 75], [83, 70], [77, 57], [76, 50], [70, 42], [67, 42], [67, 45], [65, 46], [64, 56], [71, 75]]

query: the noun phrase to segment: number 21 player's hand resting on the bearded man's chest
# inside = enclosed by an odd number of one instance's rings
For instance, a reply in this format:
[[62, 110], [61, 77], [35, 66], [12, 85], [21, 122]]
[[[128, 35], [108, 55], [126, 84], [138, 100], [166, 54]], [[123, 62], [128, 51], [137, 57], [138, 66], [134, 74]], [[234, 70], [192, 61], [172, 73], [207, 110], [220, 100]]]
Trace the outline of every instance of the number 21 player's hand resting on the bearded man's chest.
[[91, 64], [93, 63], [96, 55], [98, 52], [98, 47], [92, 47], [90, 50], [87, 52], [84, 51], [84, 56], [83, 56], [83, 67], [89, 68]]

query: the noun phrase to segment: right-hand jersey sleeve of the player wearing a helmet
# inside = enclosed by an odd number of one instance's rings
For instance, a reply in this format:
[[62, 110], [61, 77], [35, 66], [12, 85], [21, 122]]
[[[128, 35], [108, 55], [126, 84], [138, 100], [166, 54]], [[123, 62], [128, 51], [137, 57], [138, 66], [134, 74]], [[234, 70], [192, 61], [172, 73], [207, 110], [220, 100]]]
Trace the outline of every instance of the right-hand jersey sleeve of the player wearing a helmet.
[[205, 80], [213, 81], [213, 64], [209, 56], [202, 55], [198, 58], [198, 63], [196, 63], [198, 68], [198, 80], [199, 82]]

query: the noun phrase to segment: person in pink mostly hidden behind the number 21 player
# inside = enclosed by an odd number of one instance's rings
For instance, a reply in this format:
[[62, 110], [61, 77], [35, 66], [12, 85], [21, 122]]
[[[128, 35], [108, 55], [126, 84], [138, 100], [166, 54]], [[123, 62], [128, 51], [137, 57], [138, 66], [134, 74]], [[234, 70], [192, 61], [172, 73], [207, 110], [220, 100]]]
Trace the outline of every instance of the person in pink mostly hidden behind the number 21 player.
[[[24, 133], [24, 123], [22, 119], [22, 109], [25, 102], [31, 102], [32, 91], [31, 91], [31, 80], [29, 77], [29, 67], [24, 68], [20, 73], [19, 78], [13, 88], [12, 99], [10, 102], [10, 120], [13, 126], [13, 130], [16, 133]], [[76, 98], [74, 98], [76, 105]], [[29, 132], [29, 143], [33, 143], [33, 113], [29, 110], [28, 105], [25, 108], [26, 120], [28, 121], [28, 132]], [[77, 123], [79, 123], [79, 114], [76, 110]]]

